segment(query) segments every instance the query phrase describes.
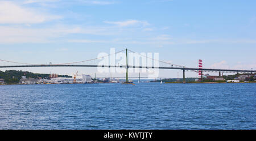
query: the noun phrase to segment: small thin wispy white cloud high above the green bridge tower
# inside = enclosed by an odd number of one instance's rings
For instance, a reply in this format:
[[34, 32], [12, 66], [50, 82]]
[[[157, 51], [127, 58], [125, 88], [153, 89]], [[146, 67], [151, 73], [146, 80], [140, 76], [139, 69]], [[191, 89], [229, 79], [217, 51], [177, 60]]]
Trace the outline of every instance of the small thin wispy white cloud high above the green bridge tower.
[[125, 21], [119, 21], [119, 22], [104, 21], [104, 23], [115, 24], [118, 27], [127, 27], [131, 25], [142, 25], [144, 27], [146, 25], [150, 25], [148, 22], [140, 21], [140, 20], [125, 20]]

